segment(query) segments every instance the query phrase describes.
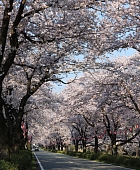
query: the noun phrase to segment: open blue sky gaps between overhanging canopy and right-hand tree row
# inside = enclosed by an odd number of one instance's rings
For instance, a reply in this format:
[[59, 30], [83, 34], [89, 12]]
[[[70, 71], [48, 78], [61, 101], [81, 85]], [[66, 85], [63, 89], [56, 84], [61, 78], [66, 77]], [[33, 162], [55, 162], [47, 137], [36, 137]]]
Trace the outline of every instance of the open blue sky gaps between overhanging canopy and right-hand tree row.
[[[110, 59], [114, 59], [120, 56], [132, 56], [135, 53], [136, 53], [136, 50], [129, 48], [129, 49], [123, 49], [121, 51], [114, 51], [112, 54], [107, 54], [106, 56], [108, 56]], [[82, 76], [82, 73], [79, 73], [77, 75], [77, 77], [79, 76]], [[74, 78], [75, 78], [75, 75], [70, 73], [63, 79], [63, 81], [68, 82], [70, 79], [74, 79]], [[62, 84], [62, 83], [61, 84], [54, 83], [53, 92], [59, 94], [66, 86], [67, 85]]]

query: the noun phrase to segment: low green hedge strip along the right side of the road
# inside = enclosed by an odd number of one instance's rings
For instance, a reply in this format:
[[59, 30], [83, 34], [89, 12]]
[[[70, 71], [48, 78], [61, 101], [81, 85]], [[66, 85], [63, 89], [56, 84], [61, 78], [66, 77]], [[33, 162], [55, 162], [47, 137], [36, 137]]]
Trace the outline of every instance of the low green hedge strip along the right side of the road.
[[75, 156], [78, 158], [84, 158], [88, 160], [94, 160], [97, 162], [104, 162], [116, 166], [121, 166], [125, 168], [132, 168], [135, 170], [140, 170], [140, 157], [130, 157], [130, 156], [120, 156], [120, 155], [110, 155], [105, 153], [94, 153], [94, 152], [74, 152], [74, 151], [57, 151], [48, 150], [55, 153], [66, 154], [69, 156]]

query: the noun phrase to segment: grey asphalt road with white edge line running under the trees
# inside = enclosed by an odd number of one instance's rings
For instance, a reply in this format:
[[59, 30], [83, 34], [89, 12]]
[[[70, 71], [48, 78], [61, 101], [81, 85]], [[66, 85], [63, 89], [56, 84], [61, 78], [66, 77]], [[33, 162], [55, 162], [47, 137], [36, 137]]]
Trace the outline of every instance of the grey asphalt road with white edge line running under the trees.
[[40, 170], [130, 170], [43, 150], [34, 152], [34, 154], [38, 160]]

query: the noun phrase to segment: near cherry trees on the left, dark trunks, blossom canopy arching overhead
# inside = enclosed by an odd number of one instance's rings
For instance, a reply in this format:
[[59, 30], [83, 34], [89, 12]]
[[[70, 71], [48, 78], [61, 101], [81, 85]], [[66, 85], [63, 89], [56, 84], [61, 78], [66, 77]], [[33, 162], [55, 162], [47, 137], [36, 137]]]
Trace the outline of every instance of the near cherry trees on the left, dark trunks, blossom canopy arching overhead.
[[108, 52], [139, 51], [139, 11], [135, 0], [0, 1], [1, 156], [24, 148], [22, 118], [43, 84], [93, 69]]

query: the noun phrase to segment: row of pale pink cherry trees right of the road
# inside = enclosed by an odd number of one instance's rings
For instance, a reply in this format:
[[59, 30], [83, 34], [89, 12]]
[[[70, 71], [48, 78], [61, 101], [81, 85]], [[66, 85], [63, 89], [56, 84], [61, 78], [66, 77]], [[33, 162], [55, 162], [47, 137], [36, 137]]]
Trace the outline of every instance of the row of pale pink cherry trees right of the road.
[[139, 146], [139, 59], [136, 54], [102, 62], [102, 68], [86, 72], [62, 92], [61, 113], [73, 129], [75, 150], [80, 141], [86, 148], [93, 139], [95, 152], [106, 144], [113, 154], [125, 144]]

